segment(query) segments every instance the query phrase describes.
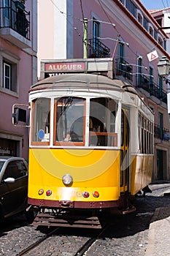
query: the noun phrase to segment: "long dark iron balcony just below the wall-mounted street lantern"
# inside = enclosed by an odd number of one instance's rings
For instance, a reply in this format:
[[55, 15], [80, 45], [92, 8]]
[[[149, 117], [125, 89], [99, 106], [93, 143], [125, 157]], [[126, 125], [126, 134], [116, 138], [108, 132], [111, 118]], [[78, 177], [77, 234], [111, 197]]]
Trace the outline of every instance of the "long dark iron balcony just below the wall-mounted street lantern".
[[144, 89], [150, 93], [150, 96], [155, 96], [157, 99], [167, 104], [167, 94], [165, 90], [161, 89], [158, 84], [153, 81], [150, 82], [145, 75], [139, 75], [138, 78], [138, 88]]

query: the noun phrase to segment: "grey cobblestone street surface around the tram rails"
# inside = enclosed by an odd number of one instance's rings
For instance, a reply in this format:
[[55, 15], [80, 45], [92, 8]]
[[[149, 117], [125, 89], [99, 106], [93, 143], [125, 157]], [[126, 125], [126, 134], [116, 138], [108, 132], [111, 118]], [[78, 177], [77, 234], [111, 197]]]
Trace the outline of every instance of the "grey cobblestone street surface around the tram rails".
[[[170, 197], [163, 192], [170, 189], [169, 184], [152, 184], [151, 194], [137, 198], [136, 212], [126, 216], [115, 216], [110, 220], [109, 228], [101, 238], [96, 239], [85, 255], [125, 255], [144, 256], [150, 245], [148, 231], [150, 222], [169, 217], [169, 211], [158, 211], [170, 206]], [[23, 219], [22, 219], [23, 218]], [[0, 255], [17, 256], [19, 252], [39, 241], [45, 236], [47, 229], [26, 225], [24, 217], [10, 220], [1, 225]], [[5, 226], [6, 225], [6, 226]], [[71, 256], [77, 249], [93, 236], [94, 230], [60, 228], [59, 232], [50, 236], [26, 255]], [[161, 230], [160, 230], [161, 232]], [[149, 237], [150, 238], [150, 237]], [[147, 254], [148, 255], [148, 254]], [[148, 255], [149, 256], [149, 255]], [[164, 255], [163, 255], [164, 256]]]

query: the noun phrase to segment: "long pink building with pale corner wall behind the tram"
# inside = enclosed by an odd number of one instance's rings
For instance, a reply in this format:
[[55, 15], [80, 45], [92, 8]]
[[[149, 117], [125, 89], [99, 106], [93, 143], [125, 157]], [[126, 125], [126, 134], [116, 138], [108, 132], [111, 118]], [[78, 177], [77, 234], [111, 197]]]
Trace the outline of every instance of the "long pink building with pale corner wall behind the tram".
[[38, 77], [43, 59], [112, 57], [115, 78], [133, 84], [155, 113], [152, 179], [169, 179], [167, 86], [158, 74], [159, 59], [170, 59], [167, 34], [139, 0], [39, 1], [38, 10]]

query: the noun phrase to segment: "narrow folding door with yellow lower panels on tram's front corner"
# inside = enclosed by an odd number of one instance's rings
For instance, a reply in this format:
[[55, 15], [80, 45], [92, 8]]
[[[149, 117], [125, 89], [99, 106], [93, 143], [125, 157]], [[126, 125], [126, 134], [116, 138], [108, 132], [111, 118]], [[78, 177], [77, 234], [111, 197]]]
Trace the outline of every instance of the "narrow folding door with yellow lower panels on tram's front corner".
[[128, 190], [129, 175], [129, 110], [121, 112], [121, 147], [120, 147], [120, 192]]

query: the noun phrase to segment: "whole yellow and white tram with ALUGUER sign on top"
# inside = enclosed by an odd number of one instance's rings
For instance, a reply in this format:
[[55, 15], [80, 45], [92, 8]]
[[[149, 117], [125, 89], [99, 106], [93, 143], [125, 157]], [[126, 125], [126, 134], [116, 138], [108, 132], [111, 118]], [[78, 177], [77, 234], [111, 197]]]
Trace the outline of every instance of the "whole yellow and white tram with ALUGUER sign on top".
[[35, 225], [126, 214], [134, 211], [131, 197], [151, 182], [152, 110], [133, 86], [112, 79], [110, 67], [112, 59], [42, 61], [47, 78], [29, 92]]

